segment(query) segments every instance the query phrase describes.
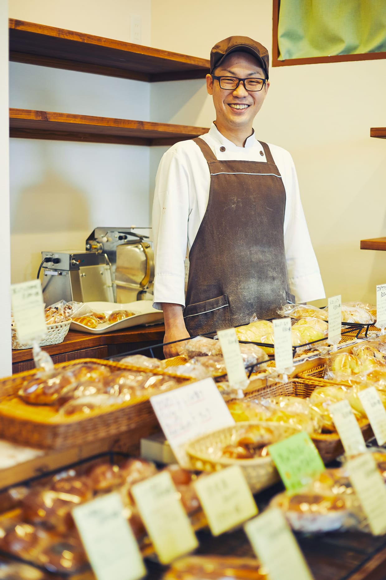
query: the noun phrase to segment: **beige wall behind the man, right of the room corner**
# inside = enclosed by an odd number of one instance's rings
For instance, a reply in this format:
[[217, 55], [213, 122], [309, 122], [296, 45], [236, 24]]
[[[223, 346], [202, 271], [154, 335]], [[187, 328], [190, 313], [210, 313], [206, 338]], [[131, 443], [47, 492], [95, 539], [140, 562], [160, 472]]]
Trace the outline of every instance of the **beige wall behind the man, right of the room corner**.
[[[271, 0], [192, 4], [152, 0], [152, 46], [209, 57], [212, 45], [247, 35], [272, 45]], [[288, 149], [326, 294], [375, 300], [386, 281], [386, 252], [361, 251], [362, 238], [386, 235], [386, 60], [271, 67], [271, 86], [255, 120], [259, 139]], [[203, 82], [152, 85], [153, 121], [208, 126], [214, 108]], [[150, 166], [160, 151], [150, 153]]]

